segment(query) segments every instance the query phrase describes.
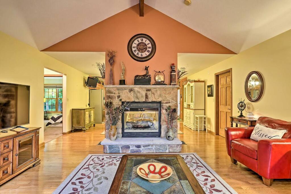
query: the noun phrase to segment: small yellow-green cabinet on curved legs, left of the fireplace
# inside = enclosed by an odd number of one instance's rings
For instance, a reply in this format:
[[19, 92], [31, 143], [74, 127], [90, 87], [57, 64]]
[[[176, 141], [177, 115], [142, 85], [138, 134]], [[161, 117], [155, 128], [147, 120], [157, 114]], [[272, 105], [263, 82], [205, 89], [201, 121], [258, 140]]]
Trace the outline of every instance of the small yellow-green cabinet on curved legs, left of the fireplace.
[[94, 107], [86, 108], [73, 108], [72, 109], [72, 132], [75, 129], [83, 129], [86, 132], [86, 128], [92, 126], [95, 127], [95, 110]]

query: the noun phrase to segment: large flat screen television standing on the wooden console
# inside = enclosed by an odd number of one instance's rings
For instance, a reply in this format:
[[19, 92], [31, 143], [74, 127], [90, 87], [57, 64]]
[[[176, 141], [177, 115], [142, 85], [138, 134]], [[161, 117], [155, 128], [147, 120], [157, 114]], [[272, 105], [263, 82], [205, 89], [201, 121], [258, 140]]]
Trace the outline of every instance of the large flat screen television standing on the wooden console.
[[29, 124], [30, 86], [0, 82], [0, 129]]

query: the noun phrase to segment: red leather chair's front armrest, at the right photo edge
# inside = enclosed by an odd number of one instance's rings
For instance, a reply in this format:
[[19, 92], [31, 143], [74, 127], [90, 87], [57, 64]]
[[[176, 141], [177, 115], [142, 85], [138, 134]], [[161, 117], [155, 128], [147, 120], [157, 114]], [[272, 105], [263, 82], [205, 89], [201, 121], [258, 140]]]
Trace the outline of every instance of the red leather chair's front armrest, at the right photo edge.
[[259, 175], [267, 179], [291, 178], [291, 139], [258, 142]]

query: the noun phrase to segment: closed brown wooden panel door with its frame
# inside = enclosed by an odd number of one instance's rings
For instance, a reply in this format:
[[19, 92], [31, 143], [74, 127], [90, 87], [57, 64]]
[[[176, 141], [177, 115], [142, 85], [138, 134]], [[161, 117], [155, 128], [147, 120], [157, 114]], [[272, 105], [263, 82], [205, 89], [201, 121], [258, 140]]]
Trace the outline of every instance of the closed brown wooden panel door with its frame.
[[225, 137], [232, 115], [232, 69], [215, 74], [215, 134]]

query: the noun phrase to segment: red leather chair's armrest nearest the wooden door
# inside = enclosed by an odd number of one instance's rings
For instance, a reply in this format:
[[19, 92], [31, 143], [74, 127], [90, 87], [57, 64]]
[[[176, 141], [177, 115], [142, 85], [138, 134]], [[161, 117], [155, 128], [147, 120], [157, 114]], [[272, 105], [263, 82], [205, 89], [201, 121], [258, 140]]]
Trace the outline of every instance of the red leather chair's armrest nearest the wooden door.
[[225, 128], [225, 141], [227, 147], [227, 154], [231, 156], [231, 140], [234, 139], [249, 139], [253, 132], [254, 127], [226, 127]]

